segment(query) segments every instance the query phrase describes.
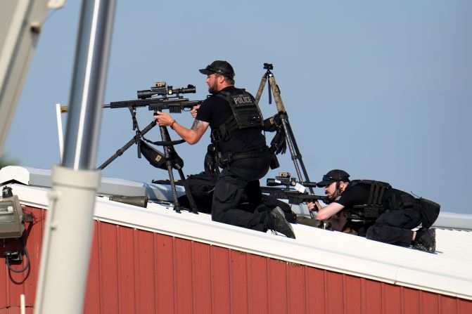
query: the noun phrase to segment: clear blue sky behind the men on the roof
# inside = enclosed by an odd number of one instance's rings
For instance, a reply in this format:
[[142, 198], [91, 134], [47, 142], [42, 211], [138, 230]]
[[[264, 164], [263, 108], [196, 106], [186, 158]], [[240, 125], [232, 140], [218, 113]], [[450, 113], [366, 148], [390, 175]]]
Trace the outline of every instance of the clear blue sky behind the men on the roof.
[[[60, 163], [55, 104], [69, 101], [77, 2], [51, 12], [39, 39], [5, 146], [24, 166]], [[471, 12], [466, 0], [117, 1], [104, 103], [135, 99], [154, 81], [196, 85], [187, 96], [204, 99], [198, 69], [213, 60], [228, 60], [236, 86], [255, 94], [262, 64], [272, 63], [312, 181], [344, 169], [472, 214]], [[267, 91], [260, 107], [264, 117], [276, 113]], [[151, 112], [138, 118], [144, 127]], [[189, 113], [174, 119], [192, 124]], [[103, 110], [97, 165], [132, 136], [127, 109]], [[158, 129], [147, 137], [159, 140]], [[203, 170], [208, 137], [176, 147], [185, 174]], [[288, 153], [279, 162], [267, 177], [295, 174]], [[167, 172], [133, 146], [103, 176], [150, 182]]]

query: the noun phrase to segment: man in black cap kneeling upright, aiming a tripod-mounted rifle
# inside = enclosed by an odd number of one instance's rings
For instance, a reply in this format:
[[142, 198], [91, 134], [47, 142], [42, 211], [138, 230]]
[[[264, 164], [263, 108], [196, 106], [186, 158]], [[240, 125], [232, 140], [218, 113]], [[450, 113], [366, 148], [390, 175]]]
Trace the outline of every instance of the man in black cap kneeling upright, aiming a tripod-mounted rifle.
[[[267, 211], [262, 205], [259, 179], [269, 171], [271, 157], [262, 134], [264, 119], [255, 98], [234, 87], [234, 70], [227, 61], [216, 60], [200, 72], [207, 75], [205, 82], [211, 95], [193, 108], [195, 120], [191, 129], [165, 112], [157, 112], [154, 118], [191, 145], [198, 143], [210, 126], [210, 138], [222, 168], [213, 194], [212, 220], [262, 232], [273, 230], [295, 238], [283, 211], [279, 207]], [[243, 193], [251, 211], [238, 209]]]

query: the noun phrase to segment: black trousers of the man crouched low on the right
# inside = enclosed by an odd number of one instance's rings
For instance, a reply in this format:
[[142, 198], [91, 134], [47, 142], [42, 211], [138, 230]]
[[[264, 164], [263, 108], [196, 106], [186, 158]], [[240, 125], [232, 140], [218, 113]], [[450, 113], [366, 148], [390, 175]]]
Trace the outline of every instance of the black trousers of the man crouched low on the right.
[[412, 243], [413, 228], [421, 223], [418, 209], [407, 208], [387, 211], [377, 218], [367, 229], [366, 238], [389, 244], [409, 247]]

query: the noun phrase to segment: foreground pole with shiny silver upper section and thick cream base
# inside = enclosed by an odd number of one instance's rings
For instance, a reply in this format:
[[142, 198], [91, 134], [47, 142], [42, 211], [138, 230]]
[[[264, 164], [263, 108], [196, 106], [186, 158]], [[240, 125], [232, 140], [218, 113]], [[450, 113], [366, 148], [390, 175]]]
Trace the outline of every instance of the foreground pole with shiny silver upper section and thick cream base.
[[52, 172], [34, 313], [82, 314], [101, 171], [96, 151], [116, 0], [82, 0], [63, 158]]

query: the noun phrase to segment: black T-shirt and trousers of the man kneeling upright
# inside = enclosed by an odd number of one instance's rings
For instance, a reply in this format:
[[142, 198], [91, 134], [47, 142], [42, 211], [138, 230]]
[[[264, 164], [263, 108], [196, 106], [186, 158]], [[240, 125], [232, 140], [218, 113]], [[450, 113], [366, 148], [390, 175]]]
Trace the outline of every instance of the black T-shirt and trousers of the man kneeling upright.
[[[229, 86], [207, 98], [196, 117], [210, 124], [223, 163], [213, 195], [212, 220], [265, 232], [265, 207], [262, 206], [259, 212], [254, 211], [262, 203], [259, 179], [269, 171], [269, 150], [261, 127], [236, 128], [226, 130], [226, 136], [223, 134], [221, 126], [234, 115], [227, 99], [234, 95], [253, 100], [249, 93]], [[238, 209], [243, 193], [248, 195], [250, 211]]]

